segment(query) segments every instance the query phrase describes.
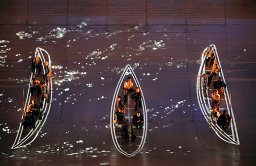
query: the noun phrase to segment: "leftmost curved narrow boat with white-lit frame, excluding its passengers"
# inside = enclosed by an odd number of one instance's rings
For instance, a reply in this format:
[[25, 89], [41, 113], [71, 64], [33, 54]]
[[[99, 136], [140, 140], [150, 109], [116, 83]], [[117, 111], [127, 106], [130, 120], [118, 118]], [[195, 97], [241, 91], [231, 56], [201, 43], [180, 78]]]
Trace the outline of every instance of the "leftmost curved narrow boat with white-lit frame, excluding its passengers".
[[[49, 62], [49, 65], [51, 67], [51, 57], [50, 54], [45, 51], [45, 49], [41, 48], [41, 47], [37, 47], [36, 51], [35, 51], [35, 57], [36, 55], [39, 55], [39, 59], [41, 60], [41, 62]], [[36, 73], [36, 70], [34, 71], [34, 73], [31, 72], [31, 76], [30, 76], [30, 82], [29, 82], [29, 86], [28, 86], [28, 92], [27, 92], [27, 97], [26, 97], [26, 102], [24, 105], [24, 109], [23, 109], [23, 114], [21, 119], [23, 119], [26, 110], [28, 109], [28, 106], [30, 105], [31, 101], [33, 100], [34, 96], [31, 96], [30, 93], [30, 84], [31, 81], [33, 81], [33, 78], [36, 77], [37, 79], [41, 79], [44, 81], [43, 77], [39, 77], [38, 74]], [[45, 64], [42, 63], [42, 71], [43, 74], [45, 74]], [[20, 147], [24, 147], [27, 146], [29, 144], [31, 144], [36, 137], [38, 136], [39, 132], [43, 129], [44, 124], [47, 120], [47, 118], [49, 117], [49, 113], [50, 113], [50, 109], [51, 109], [51, 103], [52, 103], [52, 78], [50, 78], [50, 81], [48, 81], [47, 84], [45, 84], [49, 87], [49, 95], [48, 95], [48, 99], [44, 98], [42, 101], [42, 111], [44, 112], [43, 116], [42, 116], [42, 120], [36, 120], [35, 122], [35, 129], [33, 130], [30, 127], [30, 130], [26, 131], [26, 134], [23, 131], [23, 125], [22, 122], [20, 122], [20, 126], [18, 129], [18, 133], [17, 136], [14, 140], [14, 143], [12, 145], [12, 149], [15, 148], [20, 148]]]

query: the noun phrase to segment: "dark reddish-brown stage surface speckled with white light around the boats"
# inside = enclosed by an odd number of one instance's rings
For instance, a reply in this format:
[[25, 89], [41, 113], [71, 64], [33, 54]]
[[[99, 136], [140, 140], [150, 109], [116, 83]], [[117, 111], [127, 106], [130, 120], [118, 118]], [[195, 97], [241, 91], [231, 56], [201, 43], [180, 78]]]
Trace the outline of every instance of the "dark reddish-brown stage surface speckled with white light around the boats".
[[[255, 165], [255, 29], [254, 0], [0, 0], [1, 165]], [[240, 145], [206, 127], [197, 101], [201, 55], [210, 44]], [[11, 149], [39, 46], [51, 54], [51, 110], [33, 143]], [[137, 133], [146, 141], [132, 157], [118, 151], [110, 130], [127, 64], [147, 112], [146, 133]]]

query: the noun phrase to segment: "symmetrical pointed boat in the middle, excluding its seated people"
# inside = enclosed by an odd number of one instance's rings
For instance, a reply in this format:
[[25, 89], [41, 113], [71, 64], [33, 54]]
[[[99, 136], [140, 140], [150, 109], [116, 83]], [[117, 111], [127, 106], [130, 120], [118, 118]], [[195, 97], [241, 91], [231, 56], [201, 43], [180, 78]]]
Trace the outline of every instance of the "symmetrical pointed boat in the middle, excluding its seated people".
[[[141, 110], [140, 112], [142, 113], [143, 117], [144, 117], [144, 121], [143, 121], [143, 128], [142, 128], [142, 132], [135, 134], [137, 136], [137, 138], [135, 139], [135, 141], [133, 143], [130, 144], [126, 144], [126, 145], [122, 145], [121, 144], [121, 134], [117, 133], [115, 131], [115, 124], [114, 124], [114, 117], [115, 117], [115, 107], [116, 107], [116, 99], [119, 93], [119, 96], [123, 96], [123, 84], [124, 81], [126, 81], [125, 79], [127, 79], [127, 77], [131, 77], [132, 81], [133, 81], [133, 88], [135, 87], [139, 87], [140, 91], [142, 93], [142, 101], [141, 101]], [[131, 95], [131, 94], [130, 94]], [[127, 94], [127, 107], [125, 110], [125, 119], [129, 120], [130, 122], [132, 122], [132, 115], [134, 114], [133, 108], [132, 108], [132, 100], [130, 98], [130, 95]], [[112, 100], [112, 105], [111, 105], [111, 113], [110, 113], [110, 129], [111, 129], [111, 136], [114, 142], [114, 145], [116, 147], [116, 149], [128, 156], [128, 157], [132, 157], [135, 156], [136, 154], [138, 154], [146, 141], [146, 137], [147, 137], [147, 129], [148, 129], [148, 118], [147, 118], [147, 108], [146, 108], [146, 103], [145, 103], [145, 98], [143, 96], [143, 92], [142, 92], [142, 88], [139, 84], [139, 81], [137, 79], [137, 77], [135, 76], [135, 73], [133, 72], [133, 69], [131, 67], [130, 64], [127, 64], [125, 69], [123, 70], [123, 73], [121, 75], [121, 78], [118, 81], [118, 84], [116, 86], [115, 89], [115, 93], [113, 96], [113, 100]]]

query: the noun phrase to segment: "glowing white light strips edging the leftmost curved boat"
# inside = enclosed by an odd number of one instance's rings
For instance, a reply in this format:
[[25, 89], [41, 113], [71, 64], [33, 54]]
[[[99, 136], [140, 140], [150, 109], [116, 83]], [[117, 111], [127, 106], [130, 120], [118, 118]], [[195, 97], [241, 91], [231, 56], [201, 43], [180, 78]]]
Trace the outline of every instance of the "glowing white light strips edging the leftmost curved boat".
[[[50, 54], [47, 51], [45, 51], [45, 49], [37, 47], [36, 51], [35, 51], [35, 57], [36, 57], [37, 54], [39, 55], [39, 58], [42, 62], [45, 62], [44, 54], [46, 54], [47, 57], [48, 57], [49, 65], [51, 67], [51, 57], [50, 57]], [[42, 68], [43, 68], [43, 73], [45, 73], [44, 63], [42, 63]], [[35, 70], [35, 73], [36, 73], [36, 70]], [[33, 80], [33, 73], [31, 73], [31, 76], [30, 76], [30, 82], [29, 82], [29, 86], [28, 86], [28, 93], [27, 93], [26, 103], [25, 103], [25, 107], [24, 107], [21, 119], [23, 118], [23, 116], [25, 114], [25, 111], [27, 110], [27, 108], [28, 108], [28, 106], [31, 102], [30, 101], [31, 100], [31, 94], [30, 94], [29, 87], [30, 87], [30, 83], [31, 83], [32, 80]], [[47, 117], [49, 115], [49, 112], [50, 112], [50, 109], [51, 109], [51, 104], [52, 104], [52, 78], [50, 78], [50, 81], [48, 82], [47, 86], [49, 87], [49, 92], [48, 93], [50, 93], [50, 95], [48, 96], [48, 97], [50, 97], [49, 98], [49, 106], [48, 106], [48, 103], [47, 103], [46, 99], [44, 98], [42, 110], [45, 112], [45, 115], [42, 115], [42, 121], [41, 122], [36, 121], [35, 130], [34, 131], [30, 130], [29, 133], [22, 139], [21, 139], [21, 136], [22, 136], [22, 131], [23, 131], [23, 125], [22, 125], [22, 123], [20, 123], [17, 136], [16, 136], [16, 138], [14, 140], [14, 143], [13, 143], [11, 148], [13, 148], [13, 149], [14, 148], [20, 148], [20, 147], [24, 147], [24, 146], [27, 146], [27, 145], [31, 144], [36, 139], [39, 132], [42, 130], [42, 127], [44, 126], [44, 124], [47, 120]], [[34, 138], [32, 140], [31, 139], [29, 140], [29, 138], [31, 138], [35, 133], [36, 133], [36, 135], [34, 136]]]

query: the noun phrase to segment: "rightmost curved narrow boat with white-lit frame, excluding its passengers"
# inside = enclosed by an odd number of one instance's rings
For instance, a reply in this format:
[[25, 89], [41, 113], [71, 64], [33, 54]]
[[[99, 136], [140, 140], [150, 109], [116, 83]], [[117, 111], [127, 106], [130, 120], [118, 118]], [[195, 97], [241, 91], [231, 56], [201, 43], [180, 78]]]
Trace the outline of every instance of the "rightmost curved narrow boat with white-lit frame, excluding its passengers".
[[[217, 76], [221, 77], [222, 81], [225, 82], [225, 84], [226, 84], [225, 76], [224, 76], [222, 68], [221, 68], [217, 48], [213, 44], [210, 46], [216, 53], [215, 59], [218, 61], [218, 65], [221, 69], [219, 71], [219, 73], [217, 74]], [[211, 99], [212, 98], [209, 96], [211, 95], [210, 92], [212, 91], [212, 93], [213, 93], [215, 90], [215, 88], [213, 86], [213, 82], [217, 81], [216, 80], [217, 77], [216, 78], [213, 77], [209, 90], [207, 90], [207, 88], [204, 89], [203, 78], [200, 76], [201, 76], [201, 74], [205, 74], [206, 72], [211, 72], [210, 70], [205, 69], [205, 61], [207, 59], [207, 55], [205, 54], [206, 51], [207, 51], [207, 47], [204, 49], [204, 51], [202, 53], [202, 63], [199, 68], [199, 71], [198, 71], [198, 77], [197, 77], [197, 82], [196, 82], [196, 92], [197, 92], [198, 104], [203, 113], [203, 116], [204, 116], [205, 120], [210, 124], [209, 113], [211, 112]], [[219, 92], [220, 92], [220, 90], [219, 90]], [[238, 138], [238, 133], [237, 133], [236, 121], [235, 121], [235, 116], [234, 116], [234, 112], [233, 112], [232, 105], [231, 105], [231, 100], [230, 100], [231, 97], [229, 97], [229, 93], [228, 93], [228, 88], [225, 88], [225, 93], [224, 94], [221, 93], [220, 96], [221, 96], [221, 102], [219, 104], [220, 110], [226, 110], [228, 112], [228, 114], [230, 115], [230, 117], [232, 118], [232, 121], [230, 122], [227, 132], [223, 131], [218, 125], [216, 125], [215, 128], [213, 126], [211, 126], [211, 128], [217, 134], [217, 136], [219, 136], [225, 142], [230, 143], [230, 144], [239, 145], [240, 143], [239, 143], [239, 138]]]

